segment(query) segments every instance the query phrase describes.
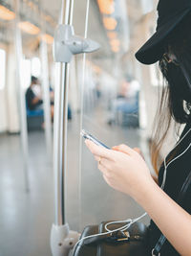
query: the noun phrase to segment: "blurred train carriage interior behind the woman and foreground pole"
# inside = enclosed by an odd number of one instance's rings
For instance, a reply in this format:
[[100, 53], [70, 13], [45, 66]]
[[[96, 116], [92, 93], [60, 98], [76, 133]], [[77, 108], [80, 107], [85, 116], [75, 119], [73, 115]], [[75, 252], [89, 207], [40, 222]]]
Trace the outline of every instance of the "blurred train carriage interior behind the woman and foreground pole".
[[[52, 255], [53, 139], [58, 136], [55, 113], [63, 110], [63, 101], [56, 102], [59, 93], [55, 96], [60, 63], [54, 58], [53, 41], [68, 2], [74, 2], [74, 35], [91, 39], [97, 48], [74, 54], [69, 64], [67, 145], [62, 152], [67, 159], [63, 197], [70, 228], [81, 233], [88, 224], [143, 213], [133, 198], [105, 183], [80, 135], [82, 129], [109, 148], [139, 148], [154, 173], [149, 144], [163, 81], [158, 64], [144, 66], [135, 53], [155, 31], [157, 1], [1, 0], [1, 256]], [[28, 101], [30, 90], [41, 99], [35, 109]], [[169, 137], [162, 153], [171, 145]], [[148, 224], [150, 219], [141, 221]]]

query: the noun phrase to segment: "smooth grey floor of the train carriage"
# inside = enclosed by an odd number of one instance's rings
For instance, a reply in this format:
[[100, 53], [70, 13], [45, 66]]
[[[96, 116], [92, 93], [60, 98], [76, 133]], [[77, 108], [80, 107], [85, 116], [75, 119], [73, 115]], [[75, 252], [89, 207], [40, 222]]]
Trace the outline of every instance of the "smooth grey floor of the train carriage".
[[[143, 209], [126, 195], [111, 189], [96, 168], [96, 161], [82, 141], [79, 161], [79, 123], [69, 123], [66, 220], [81, 232], [91, 223], [138, 217]], [[148, 154], [139, 129], [109, 126], [104, 119], [84, 116], [84, 128], [108, 146], [126, 143]], [[79, 165], [81, 168], [79, 168]], [[0, 256], [51, 256], [50, 232], [54, 221], [53, 161], [47, 156], [43, 131], [29, 133], [26, 192], [19, 135], [0, 135]], [[81, 184], [81, 185], [79, 185]], [[149, 218], [142, 221], [148, 223]]]

